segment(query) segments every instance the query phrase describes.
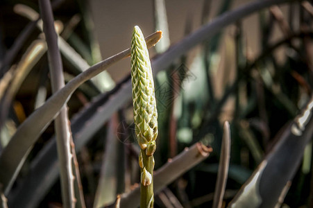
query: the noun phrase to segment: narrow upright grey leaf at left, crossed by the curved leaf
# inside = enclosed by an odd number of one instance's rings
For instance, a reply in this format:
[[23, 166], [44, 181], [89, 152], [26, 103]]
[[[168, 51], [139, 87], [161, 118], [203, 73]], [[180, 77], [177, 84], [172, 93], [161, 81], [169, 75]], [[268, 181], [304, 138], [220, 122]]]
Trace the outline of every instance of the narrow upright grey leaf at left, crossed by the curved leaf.
[[[58, 90], [62, 89], [62, 87], [65, 86], [62, 59], [60, 51], [58, 49], [58, 35], [56, 33], [50, 1], [40, 0], [39, 7], [42, 15], [43, 31], [46, 38], [46, 44], [48, 46], [51, 89], [52, 93], [55, 94], [56, 92], [58, 92]], [[61, 108], [60, 114], [56, 116], [54, 127], [56, 130], [58, 159], [60, 161], [60, 181], [63, 205], [65, 207], [75, 207], [77, 197], [79, 207], [85, 207], [85, 202], [81, 202], [81, 200], [83, 200], [83, 198], [81, 198], [81, 195], [78, 194], [77, 196], [75, 196], [74, 191], [74, 180], [80, 181], [81, 178], [79, 177], [79, 173], [76, 174], [73, 167], [76, 155], [71, 151], [71, 148], [74, 146], [74, 144], [71, 144], [73, 138], [71, 137], [68, 109], [66, 104]], [[78, 182], [78, 184], [80, 183], [81, 182]], [[78, 187], [76, 187], [76, 189], [81, 190], [78, 189]], [[76, 192], [79, 193], [80, 191]]]

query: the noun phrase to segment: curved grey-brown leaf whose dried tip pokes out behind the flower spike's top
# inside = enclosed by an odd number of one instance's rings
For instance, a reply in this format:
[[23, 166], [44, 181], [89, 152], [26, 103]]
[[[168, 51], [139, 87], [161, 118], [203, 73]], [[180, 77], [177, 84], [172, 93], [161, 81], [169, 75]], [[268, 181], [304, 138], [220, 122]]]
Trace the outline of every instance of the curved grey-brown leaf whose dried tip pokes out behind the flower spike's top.
[[[146, 39], [147, 46], [151, 47], [158, 42], [160, 35], [161, 33], [157, 32], [149, 36]], [[53, 118], [55, 118], [62, 106], [67, 103], [71, 94], [86, 80], [96, 76], [111, 64], [126, 58], [128, 55], [130, 55], [130, 49], [117, 53], [98, 64], [94, 64], [94, 66], [67, 83], [67, 85], [56, 92], [56, 94], [53, 94], [42, 107], [38, 108], [31, 116], [28, 116], [28, 119], [26, 119], [24, 123], [19, 125], [17, 132], [15, 132], [15, 135], [10, 139], [8, 146], [3, 149], [0, 157], [0, 169], [6, 169], [5, 172], [1, 171], [0, 173], [0, 182], [3, 184], [5, 194], [8, 194], [12, 182], [14, 182], [17, 173], [19, 173], [20, 168], [22, 168], [22, 164], [31, 151], [33, 144]]]

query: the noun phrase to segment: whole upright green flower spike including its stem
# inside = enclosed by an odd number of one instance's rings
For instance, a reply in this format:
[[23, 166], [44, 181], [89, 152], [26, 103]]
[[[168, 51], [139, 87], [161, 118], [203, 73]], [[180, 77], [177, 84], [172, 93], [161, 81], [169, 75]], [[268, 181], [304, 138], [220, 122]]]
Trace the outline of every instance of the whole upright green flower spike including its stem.
[[140, 207], [153, 207], [153, 153], [158, 137], [158, 112], [155, 103], [154, 83], [144, 35], [135, 26], [131, 40], [131, 81], [134, 107], [135, 134], [141, 148]]

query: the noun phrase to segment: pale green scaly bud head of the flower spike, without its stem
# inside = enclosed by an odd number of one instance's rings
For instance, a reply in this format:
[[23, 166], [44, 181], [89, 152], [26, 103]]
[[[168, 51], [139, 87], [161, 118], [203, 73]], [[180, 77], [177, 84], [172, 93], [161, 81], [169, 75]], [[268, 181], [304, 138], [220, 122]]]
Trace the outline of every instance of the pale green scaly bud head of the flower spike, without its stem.
[[140, 148], [145, 150], [149, 141], [158, 136], [158, 112], [149, 52], [138, 26], [133, 31], [130, 53], [135, 134]]

